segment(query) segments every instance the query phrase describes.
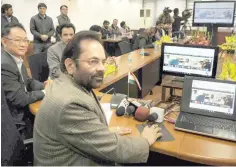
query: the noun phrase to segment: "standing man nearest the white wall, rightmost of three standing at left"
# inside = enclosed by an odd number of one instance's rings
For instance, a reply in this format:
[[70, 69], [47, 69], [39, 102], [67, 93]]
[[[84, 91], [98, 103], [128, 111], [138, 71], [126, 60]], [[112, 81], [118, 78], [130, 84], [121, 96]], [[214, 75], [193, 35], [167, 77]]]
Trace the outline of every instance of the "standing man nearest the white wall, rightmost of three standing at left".
[[57, 18], [53, 22], [55, 31], [56, 31], [55, 32], [56, 41], [61, 41], [60, 33], [59, 33], [59, 26], [61, 26], [62, 24], [71, 23], [70, 18], [68, 17], [68, 6], [62, 5], [60, 7], [60, 11], [61, 11], [61, 14], [57, 16]]

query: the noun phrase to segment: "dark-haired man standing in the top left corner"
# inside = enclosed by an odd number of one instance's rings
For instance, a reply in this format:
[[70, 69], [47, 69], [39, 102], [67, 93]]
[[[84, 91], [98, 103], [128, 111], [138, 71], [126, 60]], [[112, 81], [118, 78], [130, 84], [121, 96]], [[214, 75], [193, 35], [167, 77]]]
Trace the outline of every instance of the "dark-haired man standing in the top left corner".
[[12, 15], [13, 10], [10, 4], [2, 5], [1, 11], [2, 11], [1, 30], [9, 23], [19, 23], [18, 19]]

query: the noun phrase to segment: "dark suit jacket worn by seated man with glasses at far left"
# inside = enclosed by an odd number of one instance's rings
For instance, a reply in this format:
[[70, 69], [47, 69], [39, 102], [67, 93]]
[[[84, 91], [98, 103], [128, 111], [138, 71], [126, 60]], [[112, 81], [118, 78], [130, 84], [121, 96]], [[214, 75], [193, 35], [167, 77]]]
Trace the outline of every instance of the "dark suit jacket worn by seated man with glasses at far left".
[[31, 79], [24, 64], [21, 68], [23, 81], [16, 62], [6, 51], [2, 50], [1, 58], [2, 89], [15, 123], [22, 123], [24, 115], [29, 114], [25, 113], [28, 105], [43, 99], [44, 93], [41, 90], [44, 89], [44, 84]]

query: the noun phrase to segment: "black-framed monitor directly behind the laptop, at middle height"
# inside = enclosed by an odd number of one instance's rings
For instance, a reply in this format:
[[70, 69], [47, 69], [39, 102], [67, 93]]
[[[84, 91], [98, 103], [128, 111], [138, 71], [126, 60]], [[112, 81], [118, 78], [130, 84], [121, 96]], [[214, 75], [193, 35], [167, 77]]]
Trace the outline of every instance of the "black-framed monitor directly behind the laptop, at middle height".
[[218, 47], [163, 43], [161, 74], [215, 78], [218, 54]]

